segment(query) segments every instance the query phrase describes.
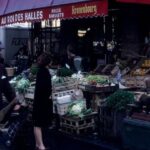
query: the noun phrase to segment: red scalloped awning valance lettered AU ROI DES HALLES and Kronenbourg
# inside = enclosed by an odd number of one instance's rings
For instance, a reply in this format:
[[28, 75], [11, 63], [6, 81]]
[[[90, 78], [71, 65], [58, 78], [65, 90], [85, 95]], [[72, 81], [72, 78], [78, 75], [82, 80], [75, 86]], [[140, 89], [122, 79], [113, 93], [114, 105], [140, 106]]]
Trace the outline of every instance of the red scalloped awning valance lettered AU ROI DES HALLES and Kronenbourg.
[[107, 0], [82, 2], [77, 4], [61, 5], [59, 7], [46, 7], [36, 10], [15, 12], [0, 16], [0, 25], [21, 22], [32, 22], [47, 19], [70, 19], [92, 16], [102, 16], [108, 13]]

